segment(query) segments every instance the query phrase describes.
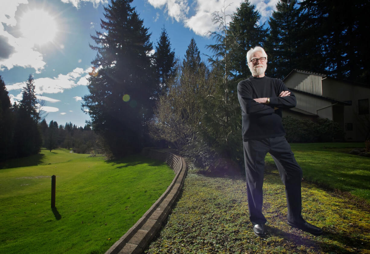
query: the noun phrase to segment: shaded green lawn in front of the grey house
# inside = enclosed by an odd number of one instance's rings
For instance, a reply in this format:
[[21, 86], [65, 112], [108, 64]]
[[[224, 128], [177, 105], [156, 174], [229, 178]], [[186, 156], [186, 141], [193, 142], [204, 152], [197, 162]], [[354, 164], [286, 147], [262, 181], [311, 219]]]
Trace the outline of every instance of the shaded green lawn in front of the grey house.
[[[350, 192], [370, 204], [370, 158], [349, 154], [353, 148], [364, 148], [364, 143], [290, 145], [302, 167], [304, 181]], [[270, 156], [266, 162], [275, 165]]]

